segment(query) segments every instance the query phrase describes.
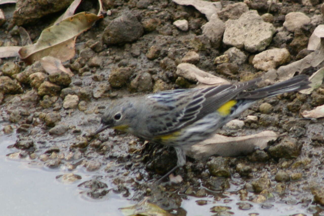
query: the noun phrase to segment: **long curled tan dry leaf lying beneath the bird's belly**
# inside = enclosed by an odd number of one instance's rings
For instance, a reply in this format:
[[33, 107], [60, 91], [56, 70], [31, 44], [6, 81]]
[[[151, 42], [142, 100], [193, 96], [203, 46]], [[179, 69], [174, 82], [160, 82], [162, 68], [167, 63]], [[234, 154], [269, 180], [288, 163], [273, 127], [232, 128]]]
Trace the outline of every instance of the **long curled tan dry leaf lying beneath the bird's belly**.
[[215, 134], [212, 138], [191, 146], [187, 154], [197, 160], [207, 160], [212, 155], [223, 157], [246, 155], [256, 148], [264, 149], [269, 141], [276, 140], [279, 136], [270, 130], [242, 137]]

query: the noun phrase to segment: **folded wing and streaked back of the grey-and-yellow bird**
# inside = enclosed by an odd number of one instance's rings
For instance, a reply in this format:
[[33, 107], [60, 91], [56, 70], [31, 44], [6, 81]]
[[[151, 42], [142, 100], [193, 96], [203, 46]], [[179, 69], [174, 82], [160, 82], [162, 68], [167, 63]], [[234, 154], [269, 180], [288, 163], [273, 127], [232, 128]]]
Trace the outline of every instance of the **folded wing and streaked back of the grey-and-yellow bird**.
[[[156, 112], [152, 112], [154, 114], [148, 116], [150, 122], [154, 124], [149, 126], [150, 132], [156, 136], [173, 133], [209, 113], [216, 112], [257, 81], [251, 80], [204, 89], [168, 90], [150, 94], [147, 99], [157, 102], [155, 106], [153, 105]], [[234, 105], [231, 103], [228, 107]]]

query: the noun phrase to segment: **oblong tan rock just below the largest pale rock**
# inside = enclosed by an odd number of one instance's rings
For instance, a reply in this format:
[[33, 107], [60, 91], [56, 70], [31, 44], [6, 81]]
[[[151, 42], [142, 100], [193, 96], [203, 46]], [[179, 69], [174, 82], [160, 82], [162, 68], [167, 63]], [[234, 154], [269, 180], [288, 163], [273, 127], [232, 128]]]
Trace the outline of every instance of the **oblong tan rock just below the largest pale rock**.
[[256, 54], [252, 60], [255, 68], [268, 71], [290, 60], [290, 53], [286, 48], [273, 48]]

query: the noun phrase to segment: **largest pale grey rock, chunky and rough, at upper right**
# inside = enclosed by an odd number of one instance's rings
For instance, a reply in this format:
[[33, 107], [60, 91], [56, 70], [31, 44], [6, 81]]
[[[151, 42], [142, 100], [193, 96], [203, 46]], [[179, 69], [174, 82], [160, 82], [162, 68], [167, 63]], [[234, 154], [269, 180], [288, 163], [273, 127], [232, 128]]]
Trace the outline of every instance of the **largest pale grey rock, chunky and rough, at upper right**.
[[275, 28], [264, 22], [256, 10], [242, 14], [237, 20], [225, 22], [223, 42], [255, 53], [263, 51], [271, 42]]

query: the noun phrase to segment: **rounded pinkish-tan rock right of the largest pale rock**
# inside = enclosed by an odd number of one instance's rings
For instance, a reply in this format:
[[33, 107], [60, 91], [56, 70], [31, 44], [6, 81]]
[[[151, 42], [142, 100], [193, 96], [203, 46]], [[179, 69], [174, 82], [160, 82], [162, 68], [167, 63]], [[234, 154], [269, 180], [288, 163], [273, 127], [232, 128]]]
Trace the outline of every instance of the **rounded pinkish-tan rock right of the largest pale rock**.
[[300, 29], [302, 26], [310, 24], [310, 18], [302, 12], [290, 12], [285, 16], [283, 26], [290, 32]]

